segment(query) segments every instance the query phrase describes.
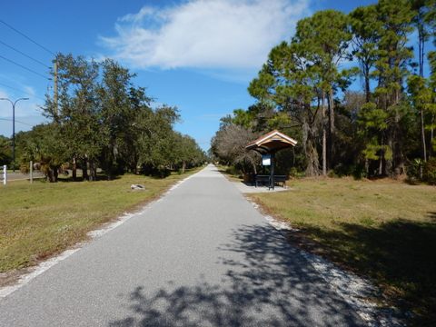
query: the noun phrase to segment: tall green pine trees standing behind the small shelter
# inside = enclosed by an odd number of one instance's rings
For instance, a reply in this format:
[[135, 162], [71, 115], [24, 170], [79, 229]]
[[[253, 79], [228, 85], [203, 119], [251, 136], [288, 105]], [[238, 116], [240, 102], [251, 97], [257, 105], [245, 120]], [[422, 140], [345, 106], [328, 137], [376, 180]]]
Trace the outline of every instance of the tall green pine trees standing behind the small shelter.
[[[349, 15], [303, 18], [250, 83], [256, 104], [224, 121], [247, 133], [292, 135], [299, 144], [283, 160], [306, 175], [412, 175], [415, 159], [434, 160], [436, 150], [436, 54], [424, 46], [435, 43], [435, 9], [434, 0], [380, 0]], [[213, 144], [223, 161], [228, 155], [216, 143], [227, 128]]]

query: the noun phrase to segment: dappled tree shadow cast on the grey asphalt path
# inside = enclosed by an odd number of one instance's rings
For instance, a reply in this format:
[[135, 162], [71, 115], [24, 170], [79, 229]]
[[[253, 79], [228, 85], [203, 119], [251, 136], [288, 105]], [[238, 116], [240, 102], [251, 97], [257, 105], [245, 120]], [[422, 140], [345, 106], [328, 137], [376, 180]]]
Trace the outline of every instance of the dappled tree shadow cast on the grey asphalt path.
[[139, 285], [126, 296], [131, 314], [109, 326], [366, 325], [271, 227], [243, 225], [232, 238], [219, 248], [222, 283]]

